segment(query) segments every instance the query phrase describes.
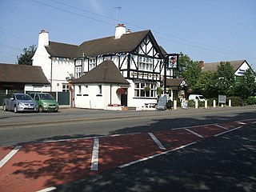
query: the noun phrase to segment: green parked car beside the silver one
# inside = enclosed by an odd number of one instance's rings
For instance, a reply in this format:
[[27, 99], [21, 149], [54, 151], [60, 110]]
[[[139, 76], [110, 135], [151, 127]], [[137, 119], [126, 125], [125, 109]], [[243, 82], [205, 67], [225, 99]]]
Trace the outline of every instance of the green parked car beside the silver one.
[[58, 102], [56, 102], [51, 94], [47, 93], [31, 93], [30, 96], [38, 104], [38, 112], [54, 111], [58, 112]]

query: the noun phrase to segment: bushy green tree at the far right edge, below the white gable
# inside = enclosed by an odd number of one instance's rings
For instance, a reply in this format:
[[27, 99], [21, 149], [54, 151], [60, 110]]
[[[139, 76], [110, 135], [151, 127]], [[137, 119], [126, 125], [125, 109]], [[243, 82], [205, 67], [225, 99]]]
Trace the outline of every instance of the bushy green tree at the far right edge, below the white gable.
[[254, 94], [255, 87], [255, 74], [252, 70], [248, 69], [236, 83], [234, 94], [245, 100]]

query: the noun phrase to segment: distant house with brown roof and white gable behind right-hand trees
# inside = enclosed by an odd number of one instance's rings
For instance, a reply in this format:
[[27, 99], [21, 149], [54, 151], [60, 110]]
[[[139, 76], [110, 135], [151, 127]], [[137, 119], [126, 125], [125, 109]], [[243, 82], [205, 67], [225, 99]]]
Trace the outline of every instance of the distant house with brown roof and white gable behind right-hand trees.
[[[227, 62], [230, 62], [230, 65], [233, 66], [234, 75], [236, 77], [241, 77], [246, 72], [246, 70], [251, 69], [249, 63], [246, 62], [246, 60], [227, 61]], [[219, 65], [220, 65], [220, 62], [204, 63], [203, 61], [199, 61], [199, 66], [201, 67], [202, 72], [216, 71]]]

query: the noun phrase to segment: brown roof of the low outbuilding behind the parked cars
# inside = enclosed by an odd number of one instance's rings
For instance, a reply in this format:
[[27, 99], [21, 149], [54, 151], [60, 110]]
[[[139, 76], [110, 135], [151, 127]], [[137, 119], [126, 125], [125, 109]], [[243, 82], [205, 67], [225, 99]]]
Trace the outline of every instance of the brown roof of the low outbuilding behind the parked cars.
[[0, 63], [0, 82], [50, 84], [41, 66]]

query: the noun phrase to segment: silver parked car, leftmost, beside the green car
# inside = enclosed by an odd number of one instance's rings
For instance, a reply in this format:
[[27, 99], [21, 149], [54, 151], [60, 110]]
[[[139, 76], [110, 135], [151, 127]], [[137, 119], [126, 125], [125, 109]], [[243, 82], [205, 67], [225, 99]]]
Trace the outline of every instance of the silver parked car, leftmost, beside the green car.
[[14, 110], [14, 113], [38, 111], [36, 102], [28, 94], [6, 94], [2, 106], [3, 110]]

